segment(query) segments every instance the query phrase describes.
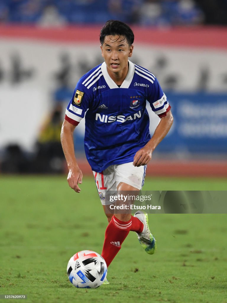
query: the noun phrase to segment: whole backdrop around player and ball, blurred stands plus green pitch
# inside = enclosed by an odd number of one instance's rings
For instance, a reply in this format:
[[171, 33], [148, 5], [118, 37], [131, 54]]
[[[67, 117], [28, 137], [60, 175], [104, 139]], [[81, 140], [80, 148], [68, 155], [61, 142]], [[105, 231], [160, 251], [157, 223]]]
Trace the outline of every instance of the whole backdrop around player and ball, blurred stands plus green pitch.
[[[59, 138], [77, 80], [103, 60], [100, 27], [120, 19], [135, 32], [132, 61], [157, 76], [174, 115], [143, 189], [225, 191], [226, 15], [226, 0], [0, 1], [0, 296], [226, 303], [226, 214], [149, 215], [156, 254], [130, 233], [110, 285], [74, 289], [67, 261], [101, 252], [107, 220], [84, 158], [84, 121], [75, 132], [80, 194], [67, 185]], [[152, 132], [158, 120], [148, 110]]]

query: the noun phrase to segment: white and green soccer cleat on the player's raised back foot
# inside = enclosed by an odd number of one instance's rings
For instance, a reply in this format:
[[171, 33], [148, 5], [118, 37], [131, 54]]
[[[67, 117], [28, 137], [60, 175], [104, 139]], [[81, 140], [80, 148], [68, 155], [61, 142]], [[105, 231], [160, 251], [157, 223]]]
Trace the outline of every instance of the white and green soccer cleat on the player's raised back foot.
[[148, 215], [143, 211], [137, 211], [134, 217], [143, 223], [143, 231], [137, 234], [139, 242], [149, 255], [153, 255], [156, 251], [156, 241], [148, 226]]

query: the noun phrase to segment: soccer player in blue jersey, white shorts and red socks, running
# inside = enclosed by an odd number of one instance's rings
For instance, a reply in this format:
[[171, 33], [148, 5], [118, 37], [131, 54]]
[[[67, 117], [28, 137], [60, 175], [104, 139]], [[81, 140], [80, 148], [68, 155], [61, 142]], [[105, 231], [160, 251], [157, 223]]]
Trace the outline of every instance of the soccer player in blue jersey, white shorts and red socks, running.
[[[101, 28], [104, 62], [78, 81], [61, 130], [61, 144], [69, 169], [67, 181], [79, 193], [82, 171], [75, 158], [73, 132], [85, 116], [85, 153], [104, 210], [105, 202], [108, 204], [106, 190], [141, 190], [146, 165], [173, 123], [170, 105], [157, 78], [128, 60], [133, 54], [133, 41], [131, 28], [123, 22], [110, 20]], [[152, 137], [146, 100], [160, 117]], [[137, 233], [148, 254], [154, 253], [156, 240], [150, 232], [147, 214], [137, 211], [134, 217], [130, 213], [106, 215], [109, 224], [101, 255], [107, 266], [129, 231]]]

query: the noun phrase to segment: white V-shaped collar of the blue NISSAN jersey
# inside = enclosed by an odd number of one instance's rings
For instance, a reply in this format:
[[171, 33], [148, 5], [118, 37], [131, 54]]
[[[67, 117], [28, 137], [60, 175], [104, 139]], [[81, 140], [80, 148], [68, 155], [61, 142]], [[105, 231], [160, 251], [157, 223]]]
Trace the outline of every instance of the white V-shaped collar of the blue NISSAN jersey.
[[[128, 63], [129, 63], [128, 73], [120, 88], [129, 88], [129, 85], [131, 84], [134, 76], [135, 65], [131, 61], [128, 61]], [[102, 63], [101, 70], [109, 88], [119, 88], [117, 84], [113, 81], [113, 79], [110, 78], [110, 75], [107, 72], [107, 65], [105, 62]]]

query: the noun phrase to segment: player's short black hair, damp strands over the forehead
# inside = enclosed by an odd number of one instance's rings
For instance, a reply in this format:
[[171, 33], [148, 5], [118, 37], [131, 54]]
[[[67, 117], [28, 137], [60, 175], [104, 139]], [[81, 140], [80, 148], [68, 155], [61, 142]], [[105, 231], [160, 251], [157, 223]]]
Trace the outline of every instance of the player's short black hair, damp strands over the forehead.
[[118, 35], [123, 37], [123, 40], [127, 40], [129, 45], [133, 44], [134, 41], [134, 34], [131, 28], [118, 20], [108, 20], [106, 24], [100, 30], [100, 43], [103, 45], [104, 39], [106, 36], [109, 35]]

